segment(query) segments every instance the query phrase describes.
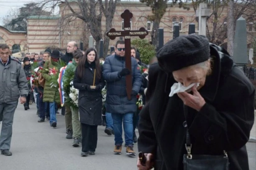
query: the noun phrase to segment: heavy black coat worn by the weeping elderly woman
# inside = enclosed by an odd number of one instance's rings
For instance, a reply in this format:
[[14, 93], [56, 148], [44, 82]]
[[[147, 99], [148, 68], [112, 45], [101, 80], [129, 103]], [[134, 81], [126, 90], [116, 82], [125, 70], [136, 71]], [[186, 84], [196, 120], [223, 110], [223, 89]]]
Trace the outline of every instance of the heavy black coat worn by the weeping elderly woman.
[[[206, 104], [199, 112], [188, 107], [191, 152], [223, 155], [225, 150], [230, 170], [249, 170], [245, 145], [254, 122], [255, 89], [225, 50], [210, 45], [210, 52], [215, 56], [213, 72], [199, 90]], [[169, 97], [175, 80], [157, 63], [151, 65], [148, 78], [147, 103], [138, 125], [138, 150], [154, 154], [155, 170], [183, 170], [183, 102], [177, 94]]]

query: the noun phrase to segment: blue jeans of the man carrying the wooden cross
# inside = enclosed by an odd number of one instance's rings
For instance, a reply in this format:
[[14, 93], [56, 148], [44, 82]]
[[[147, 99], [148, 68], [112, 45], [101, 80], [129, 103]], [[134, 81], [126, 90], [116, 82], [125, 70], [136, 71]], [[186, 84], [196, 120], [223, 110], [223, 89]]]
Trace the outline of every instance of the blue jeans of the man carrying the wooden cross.
[[[123, 144], [123, 130], [125, 134], [125, 147], [133, 146], [133, 113], [112, 113], [115, 145]], [[123, 128], [122, 128], [123, 123]]]

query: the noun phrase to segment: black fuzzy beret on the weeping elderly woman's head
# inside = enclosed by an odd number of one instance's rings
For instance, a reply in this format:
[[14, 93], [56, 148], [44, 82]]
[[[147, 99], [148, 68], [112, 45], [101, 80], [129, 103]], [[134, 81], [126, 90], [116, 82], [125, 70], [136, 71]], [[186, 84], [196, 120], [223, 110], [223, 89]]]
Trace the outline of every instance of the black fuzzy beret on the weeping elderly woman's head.
[[210, 44], [203, 35], [184, 35], [167, 42], [156, 55], [166, 72], [204, 62], [210, 58]]

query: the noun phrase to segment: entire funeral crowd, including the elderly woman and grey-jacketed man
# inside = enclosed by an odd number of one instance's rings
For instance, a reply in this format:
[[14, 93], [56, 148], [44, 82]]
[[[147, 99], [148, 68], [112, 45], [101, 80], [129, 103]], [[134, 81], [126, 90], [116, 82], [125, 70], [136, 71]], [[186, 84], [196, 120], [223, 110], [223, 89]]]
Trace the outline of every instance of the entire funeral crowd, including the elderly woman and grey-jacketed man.
[[[127, 49], [131, 69], [125, 67]], [[72, 41], [65, 54], [48, 48], [27, 53], [22, 62], [11, 56], [8, 45], [0, 45], [0, 60], [2, 155], [12, 155], [13, 117], [20, 102], [24, 110], [35, 103], [38, 123], [49, 121], [52, 128], [64, 108], [66, 138], [73, 139], [71, 146], [82, 146], [82, 157], [97, 154], [97, 126], [104, 125], [105, 133], [115, 136], [113, 154], [120, 155], [124, 146], [123, 153], [138, 156], [138, 170], [249, 170], [246, 143], [255, 89], [228, 52], [205, 36], [170, 40], [149, 65], [123, 40], [105, 58]]]

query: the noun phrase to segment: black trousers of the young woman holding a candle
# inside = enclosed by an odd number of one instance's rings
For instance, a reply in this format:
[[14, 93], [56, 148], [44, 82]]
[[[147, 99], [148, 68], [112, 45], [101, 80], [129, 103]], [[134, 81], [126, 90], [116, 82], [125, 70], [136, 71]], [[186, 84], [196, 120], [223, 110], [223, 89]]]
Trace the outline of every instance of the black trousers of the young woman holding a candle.
[[97, 148], [98, 132], [97, 125], [86, 125], [81, 123], [82, 130], [82, 152], [95, 152]]

